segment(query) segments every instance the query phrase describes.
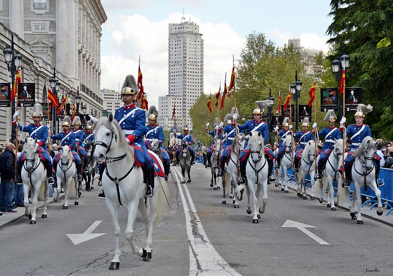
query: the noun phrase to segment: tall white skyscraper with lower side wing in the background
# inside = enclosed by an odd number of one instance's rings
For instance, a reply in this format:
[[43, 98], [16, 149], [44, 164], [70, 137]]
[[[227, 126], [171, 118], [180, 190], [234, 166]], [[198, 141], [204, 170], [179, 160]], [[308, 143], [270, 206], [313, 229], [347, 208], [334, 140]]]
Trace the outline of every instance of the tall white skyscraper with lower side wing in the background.
[[[159, 123], [173, 126], [171, 114], [176, 102], [176, 125], [192, 128], [190, 109], [203, 92], [203, 39], [199, 26], [186, 22], [169, 24], [168, 95], [159, 97]], [[170, 99], [168, 98], [170, 97]], [[179, 105], [177, 102], [180, 100]], [[170, 115], [169, 115], [170, 114]], [[168, 116], [169, 115], [169, 116]]]

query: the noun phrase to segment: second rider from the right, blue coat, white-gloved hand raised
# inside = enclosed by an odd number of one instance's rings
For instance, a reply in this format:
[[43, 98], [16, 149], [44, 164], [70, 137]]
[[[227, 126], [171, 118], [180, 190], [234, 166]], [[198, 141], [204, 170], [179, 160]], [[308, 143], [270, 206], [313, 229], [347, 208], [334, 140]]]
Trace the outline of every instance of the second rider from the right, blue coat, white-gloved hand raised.
[[[316, 180], [322, 180], [322, 170], [325, 168], [326, 161], [329, 158], [330, 153], [335, 145], [335, 139], [342, 138], [342, 132], [335, 126], [337, 116], [335, 110], [328, 110], [325, 118], [323, 119], [325, 122], [329, 122], [328, 127], [324, 127], [321, 131], [318, 132], [318, 137], [325, 137], [325, 142], [322, 145], [321, 154], [318, 160], [318, 172], [316, 174]], [[315, 133], [316, 123], [312, 125], [313, 131]]]

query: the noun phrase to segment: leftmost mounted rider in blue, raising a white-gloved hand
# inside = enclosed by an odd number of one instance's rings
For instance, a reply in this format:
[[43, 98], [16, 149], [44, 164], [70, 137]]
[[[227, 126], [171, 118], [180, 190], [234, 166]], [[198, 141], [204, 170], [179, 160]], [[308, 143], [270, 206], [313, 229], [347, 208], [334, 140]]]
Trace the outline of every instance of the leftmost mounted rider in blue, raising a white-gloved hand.
[[[41, 119], [43, 116], [41, 105], [35, 104], [33, 107], [33, 113], [31, 116], [34, 122], [33, 124], [29, 124], [28, 126], [19, 125], [18, 121], [16, 120], [16, 117], [18, 115], [19, 112], [15, 111], [13, 115], [13, 119], [15, 119], [15, 121], [13, 121], [12, 123], [14, 125], [17, 125], [20, 131], [28, 132], [30, 138], [37, 139], [37, 149], [39, 151], [40, 159], [46, 168], [48, 184], [54, 184], [54, 180], [52, 178], [52, 158], [49, 155], [48, 149], [45, 145], [45, 142], [48, 139], [48, 129], [50, 128], [50, 126], [45, 126], [41, 124]], [[22, 183], [21, 171], [24, 161], [25, 155], [24, 153], [22, 153], [17, 160], [18, 177], [16, 179], [16, 183]]]

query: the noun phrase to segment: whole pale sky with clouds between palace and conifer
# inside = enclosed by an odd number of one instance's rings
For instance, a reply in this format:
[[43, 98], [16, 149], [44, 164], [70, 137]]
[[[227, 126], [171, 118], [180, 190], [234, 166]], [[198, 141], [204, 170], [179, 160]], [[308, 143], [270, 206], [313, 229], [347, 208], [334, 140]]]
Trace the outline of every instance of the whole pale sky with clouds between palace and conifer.
[[101, 0], [108, 20], [102, 25], [101, 88], [118, 89], [126, 75], [138, 75], [138, 59], [149, 105], [168, 94], [168, 24], [199, 25], [204, 40], [204, 91], [217, 92], [225, 72], [254, 30], [276, 46], [300, 38], [301, 45], [327, 52], [325, 32], [330, 0]]

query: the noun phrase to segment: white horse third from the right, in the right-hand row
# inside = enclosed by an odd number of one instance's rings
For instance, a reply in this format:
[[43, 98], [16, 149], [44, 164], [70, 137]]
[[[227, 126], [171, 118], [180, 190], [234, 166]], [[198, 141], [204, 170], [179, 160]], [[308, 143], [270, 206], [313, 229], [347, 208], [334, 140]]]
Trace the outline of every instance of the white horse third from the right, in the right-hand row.
[[295, 174], [296, 183], [298, 185], [297, 195], [303, 199], [307, 199], [306, 194], [306, 176], [309, 174], [311, 182], [311, 198], [314, 198], [314, 175], [315, 175], [315, 142], [308, 141], [302, 152], [302, 157], [299, 161], [299, 173]]

